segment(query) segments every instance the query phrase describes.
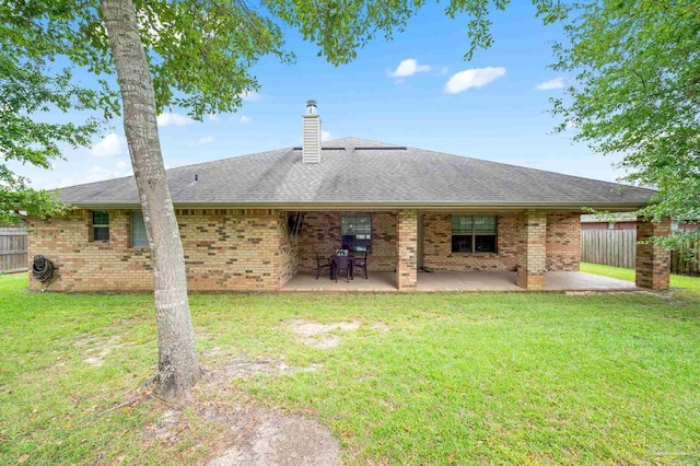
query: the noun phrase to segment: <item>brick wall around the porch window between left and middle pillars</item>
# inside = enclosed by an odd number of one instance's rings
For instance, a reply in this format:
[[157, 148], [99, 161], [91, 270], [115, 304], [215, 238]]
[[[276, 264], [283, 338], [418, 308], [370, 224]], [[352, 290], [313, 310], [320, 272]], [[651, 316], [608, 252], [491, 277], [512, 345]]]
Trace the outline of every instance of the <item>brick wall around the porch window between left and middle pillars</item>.
[[[497, 215], [498, 253], [453, 253], [452, 215]], [[516, 212], [433, 212], [423, 215], [423, 266], [434, 270], [515, 270]]]

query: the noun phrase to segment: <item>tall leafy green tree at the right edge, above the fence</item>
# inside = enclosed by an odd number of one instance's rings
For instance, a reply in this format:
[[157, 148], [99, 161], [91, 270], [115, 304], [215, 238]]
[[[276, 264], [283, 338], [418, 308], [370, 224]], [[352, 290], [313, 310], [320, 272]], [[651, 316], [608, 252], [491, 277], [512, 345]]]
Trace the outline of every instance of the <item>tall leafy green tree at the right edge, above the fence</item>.
[[[553, 100], [559, 131], [623, 154], [632, 184], [658, 189], [639, 214], [700, 219], [700, 5], [697, 0], [600, 0], [573, 5], [556, 70], [574, 79]], [[682, 247], [700, 231], [661, 240]]]

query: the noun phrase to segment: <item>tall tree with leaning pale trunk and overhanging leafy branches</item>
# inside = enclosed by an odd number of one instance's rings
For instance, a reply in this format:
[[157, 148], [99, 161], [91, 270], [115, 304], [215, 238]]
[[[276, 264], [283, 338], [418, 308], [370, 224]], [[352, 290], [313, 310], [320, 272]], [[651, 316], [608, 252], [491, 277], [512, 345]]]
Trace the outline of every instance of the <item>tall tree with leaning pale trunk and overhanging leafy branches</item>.
[[[561, 15], [560, 0], [532, 0], [545, 22]], [[67, 58], [73, 67], [117, 74], [124, 127], [152, 252], [159, 372], [163, 395], [186, 395], [200, 376], [187, 300], [183, 246], [165, 182], [156, 115], [168, 106], [195, 119], [234, 112], [258, 89], [252, 66], [262, 56], [293, 61], [283, 27], [292, 26], [334, 65], [352, 60], [377, 35], [390, 38], [424, 0], [19, 0], [0, 2], [8, 39], [25, 56]], [[469, 18], [470, 45], [491, 45], [489, 14], [509, 0], [452, 0], [450, 16]], [[34, 44], [47, 44], [42, 50]], [[113, 102], [97, 80], [98, 102]], [[83, 141], [84, 142], [84, 141]]]

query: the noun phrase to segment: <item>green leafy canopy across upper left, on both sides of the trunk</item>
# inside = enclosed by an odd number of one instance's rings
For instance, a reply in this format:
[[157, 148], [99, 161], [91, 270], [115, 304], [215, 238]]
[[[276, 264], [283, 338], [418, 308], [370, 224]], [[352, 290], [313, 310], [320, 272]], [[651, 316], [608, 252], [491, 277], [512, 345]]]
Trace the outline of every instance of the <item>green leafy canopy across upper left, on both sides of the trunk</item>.
[[[468, 19], [470, 59], [493, 37], [489, 16], [509, 0], [452, 0], [448, 16]], [[401, 32], [424, 0], [136, 0], [142, 42], [155, 88], [158, 112], [176, 106], [201, 120], [210, 113], [230, 113], [242, 97], [259, 88], [252, 67], [264, 56], [293, 62], [284, 47], [284, 28], [299, 30], [334, 65], [355, 58], [359, 48]], [[545, 23], [562, 18], [559, 0], [533, 0]], [[88, 147], [104, 123], [119, 115], [118, 89], [109, 40], [98, 0], [23, 0], [0, 2], [0, 154], [50, 168], [59, 144]], [[58, 62], [68, 63], [65, 68]], [[78, 83], [77, 69], [95, 75]], [[42, 114], [88, 110], [101, 119], [82, 124], [42, 121]], [[104, 117], [104, 118], [102, 118]], [[16, 220], [13, 210], [58, 214], [61, 207], [47, 191], [33, 190], [26, 179], [1, 165], [0, 222]]]

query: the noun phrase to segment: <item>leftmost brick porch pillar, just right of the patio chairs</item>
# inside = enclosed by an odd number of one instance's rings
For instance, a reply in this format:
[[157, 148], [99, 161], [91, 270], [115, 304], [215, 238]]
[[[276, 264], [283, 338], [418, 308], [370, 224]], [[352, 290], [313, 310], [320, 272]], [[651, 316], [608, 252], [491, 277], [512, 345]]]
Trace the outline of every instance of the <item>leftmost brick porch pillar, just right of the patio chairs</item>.
[[418, 212], [399, 210], [396, 214], [396, 287], [416, 290], [418, 282]]

